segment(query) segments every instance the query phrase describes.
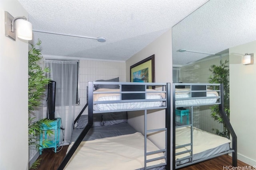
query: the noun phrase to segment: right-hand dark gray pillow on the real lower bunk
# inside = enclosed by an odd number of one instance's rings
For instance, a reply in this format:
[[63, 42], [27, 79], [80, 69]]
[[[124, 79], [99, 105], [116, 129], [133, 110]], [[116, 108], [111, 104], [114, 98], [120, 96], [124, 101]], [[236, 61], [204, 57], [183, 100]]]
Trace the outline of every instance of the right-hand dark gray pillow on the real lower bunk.
[[104, 126], [111, 126], [119, 123], [127, 122], [126, 112], [113, 112], [102, 114], [102, 124]]

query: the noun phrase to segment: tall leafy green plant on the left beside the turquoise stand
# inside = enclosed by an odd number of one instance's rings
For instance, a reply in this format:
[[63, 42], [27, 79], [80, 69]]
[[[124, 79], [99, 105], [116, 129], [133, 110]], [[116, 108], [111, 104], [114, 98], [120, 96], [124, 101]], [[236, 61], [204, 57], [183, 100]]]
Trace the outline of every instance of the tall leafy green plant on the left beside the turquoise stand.
[[[40, 45], [41, 41], [38, 39], [36, 45]], [[36, 149], [39, 147], [46, 147], [48, 144], [47, 140], [44, 140], [42, 146], [39, 145], [39, 135], [42, 133], [43, 124], [50, 127], [52, 122], [49, 119], [41, 119], [35, 121], [34, 111], [38, 106], [41, 105], [41, 99], [46, 90], [46, 84], [49, 83], [50, 79], [46, 78], [45, 72], [49, 72], [48, 68], [42, 70], [39, 62], [42, 59], [39, 49], [32, 44], [30, 51], [28, 51], [28, 145], [36, 146]], [[48, 134], [51, 134], [52, 131], [47, 131]], [[32, 164], [30, 168], [36, 168], [40, 160], [37, 160]]]

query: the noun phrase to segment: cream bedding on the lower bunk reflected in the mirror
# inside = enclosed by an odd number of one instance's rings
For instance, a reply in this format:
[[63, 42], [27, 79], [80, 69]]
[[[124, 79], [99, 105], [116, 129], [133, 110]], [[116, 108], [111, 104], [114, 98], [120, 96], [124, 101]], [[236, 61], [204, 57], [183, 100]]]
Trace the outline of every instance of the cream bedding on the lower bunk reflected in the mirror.
[[[230, 143], [229, 139], [208, 133], [196, 127], [193, 127], [193, 154], [203, 152], [205, 150], [216, 148], [220, 145]], [[179, 127], [176, 128], [176, 147], [190, 143], [190, 127]], [[190, 150], [190, 146], [176, 149], [176, 153], [185, 150]], [[178, 158], [184, 158], [190, 156], [190, 152], [180, 154], [176, 156]]]

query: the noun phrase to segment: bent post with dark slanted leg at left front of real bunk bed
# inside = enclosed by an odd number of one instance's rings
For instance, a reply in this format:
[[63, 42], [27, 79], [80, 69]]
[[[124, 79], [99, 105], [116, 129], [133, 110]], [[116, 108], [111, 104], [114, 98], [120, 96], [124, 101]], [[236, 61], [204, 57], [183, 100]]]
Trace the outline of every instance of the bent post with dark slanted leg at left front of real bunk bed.
[[[88, 123], [70, 148], [57, 170], [63, 170], [93, 124], [93, 82], [88, 82]], [[86, 107], [86, 106], [85, 106]]]

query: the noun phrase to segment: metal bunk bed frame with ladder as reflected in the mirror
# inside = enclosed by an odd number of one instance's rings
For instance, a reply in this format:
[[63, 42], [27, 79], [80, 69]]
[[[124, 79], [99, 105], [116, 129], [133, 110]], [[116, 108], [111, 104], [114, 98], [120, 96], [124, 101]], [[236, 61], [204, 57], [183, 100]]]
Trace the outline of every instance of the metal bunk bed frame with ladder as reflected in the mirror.
[[[175, 97], [175, 92], [176, 92], [176, 89], [175, 87], [176, 86], [190, 86], [190, 88], [192, 86], [206, 86], [206, 89], [207, 89], [207, 86], [218, 86], [219, 87], [219, 90], [212, 90], [212, 91], [216, 91], [216, 92], [219, 92], [220, 95], [218, 97], [191, 97], [191, 94], [192, 92], [205, 92], [206, 94], [206, 90], [202, 91], [202, 90], [190, 90], [190, 98], [179, 98], [179, 100], [192, 100], [192, 99], [204, 99], [204, 98], [218, 98], [219, 100], [214, 103], [214, 104], [198, 104], [198, 105], [179, 105], [178, 107], [191, 107], [191, 123], [189, 125], [182, 125], [182, 126], [179, 126], [179, 127], [185, 127], [185, 126], [190, 126], [191, 127], [191, 132], [190, 132], [190, 137], [191, 137], [191, 143], [189, 144], [186, 144], [186, 145], [182, 145], [182, 146], [179, 146], [179, 147], [176, 147], [175, 145], [175, 134], [176, 134], [176, 125], [175, 125], [175, 109], [176, 109], [176, 97]], [[173, 86], [172, 86], [172, 100], [173, 100], [173, 125], [172, 125], [172, 134], [173, 134], [173, 145], [172, 145], [172, 162], [174, 162], [172, 164], [172, 169], [178, 169], [178, 168], [182, 168], [182, 167], [185, 167], [185, 166], [190, 166], [192, 164], [195, 164], [195, 163], [198, 163], [198, 162], [202, 162], [202, 161], [205, 161], [205, 160], [208, 160], [208, 159], [211, 159], [211, 158], [215, 158], [217, 156], [221, 156], [223, 154], [228, 154], [228, 153], [232, 153], [232, 165], [233, 166], [237, 166], [237, 137], [236, 137], [236, 133], [234, 132], [234, 129], [232, 128], [231, 124], [230, 124], [230, 121], [224, 111], [224, 88], [223, 88], [223, 84], [203, 84], [203, 83], [173, 83]], [[226, 151], [226, 152], [222, 152], [222, 153], [219, 153], [219, 154], [216, 154], [216, 155], [213, 155], [213, 156], [208, 156], [207, 158], [203, 158], [203, 159], [200, 159], [200, 160], [193, 160], [193, 132], [192, 132], [192, 127], [193, 127], [193, 106], [203, 106], [203, 105], [216, 105], [218, 104], [219, 106], [219, 111], [220, 111], [220, 114], [222, 116], [222, 118], [224, 119], [224, 123], [226, 124], [226, 128], [228, 129], [228, 131], [230, 132], [231, 136], [232, 136], [232, 149], [230, 148], [230, 150]], [[188, 151], [185, 151], [185, 152], [179, 152], [179, 153], [176, 153], [175, 150], [180, 148], [180, 147], [185, 147], [185, 146], [190, 146], [191, 149], [188, 150]], [[186, 153], [186, 152], [190, 152], [190, 156], [189, 157], [186, 157], [184, 158], [184, 160], [188, 159], [189, 158], [189, 162], [188, 163], [184, 163], [184, 164], [181, 164], [181, 165], [178, 165], [176, 166], [176, 162], [179, 162], [179, 161], [176, 161], [175, 157], [176, 155], [178, 154], [183, 154], [183, 153]], [[182, 159], [181, 159], [182, 160]]]

